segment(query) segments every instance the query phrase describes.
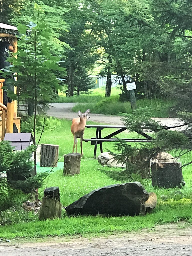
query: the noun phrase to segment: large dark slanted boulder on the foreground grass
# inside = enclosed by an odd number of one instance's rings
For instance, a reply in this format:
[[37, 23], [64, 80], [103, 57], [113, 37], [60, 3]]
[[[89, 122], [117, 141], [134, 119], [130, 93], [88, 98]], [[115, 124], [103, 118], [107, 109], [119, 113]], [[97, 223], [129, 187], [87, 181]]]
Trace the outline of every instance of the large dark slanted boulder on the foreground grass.
[[66, 207], [68, 215], [144, 215], [149, 194], [139, 182], [96, 189]]

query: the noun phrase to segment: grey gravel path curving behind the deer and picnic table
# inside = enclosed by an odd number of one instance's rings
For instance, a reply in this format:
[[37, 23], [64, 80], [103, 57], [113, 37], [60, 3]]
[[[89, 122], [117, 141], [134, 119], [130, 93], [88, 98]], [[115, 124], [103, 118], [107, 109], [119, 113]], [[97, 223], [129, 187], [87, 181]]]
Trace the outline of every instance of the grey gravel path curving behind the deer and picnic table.
[[[76, 103], [53, 103], [50, 104], [50, 108], [47, 111], [47, 115], [55, 116], [57, 118], [66, 118], [72, 120], [77, 118], [78, 114], [72, 112], [72, 108]], [[108, 116], [102, 114], [91, 114], [90, 121], [105, 123], [105, 124], [114, 124], [122, 125], [121, 116]], [[175, 126], [182, 124], [179, 119], [176, 118], [154, 118], [156, 121], [159, 121], [162, 125]], [[89, 122], [88, 120], [88, 122]]]

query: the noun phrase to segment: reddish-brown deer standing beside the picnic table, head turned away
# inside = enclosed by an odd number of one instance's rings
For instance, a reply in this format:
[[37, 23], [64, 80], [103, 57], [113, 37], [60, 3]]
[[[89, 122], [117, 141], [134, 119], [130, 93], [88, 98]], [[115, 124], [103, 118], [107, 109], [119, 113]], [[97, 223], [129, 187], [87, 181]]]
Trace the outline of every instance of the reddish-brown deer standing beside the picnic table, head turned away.
[[73, 153], [76, 146], [76, 153], [77, 153], [77, 138], [81, 139], [81, 156], [83, 156], [83, 134], [86, 126], [87, 120], [90, 118], [88, 114], [90, 113], [90, 109], [88, 109], [85, 113], [78, 112], [80, 118], [74, 118], [72, 120], [71, 125], [71, 132], [74, 136], [74, 144], [73, 144]]

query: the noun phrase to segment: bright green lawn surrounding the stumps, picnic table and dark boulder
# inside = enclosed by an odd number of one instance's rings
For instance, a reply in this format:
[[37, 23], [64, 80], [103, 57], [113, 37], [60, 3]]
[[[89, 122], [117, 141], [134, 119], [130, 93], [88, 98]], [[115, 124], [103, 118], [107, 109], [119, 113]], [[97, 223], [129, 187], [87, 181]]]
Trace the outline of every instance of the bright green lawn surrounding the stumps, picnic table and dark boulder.
[[[60, 146], [59, 155], [61, 162], [63, 161], [63, 154], [71, 153], [73, 147], [73, 136], [70, 132], [70, 125], [71, 121], [58, 120], [58, 127], [55, 127], [53, 131], [45, 131], [41, 140], [41, 143], [58, 144]], [[103, 135], [107, 133], [108, 130], [103, 131]], [[95, 136], [95, 130], [86, 129], [84, 137], [89, 138], [93, 136]], [[137, 134], [124, 132], [121, 133], [121, 136], [133, 138]], [[106, 143], [104, 147], [112, 150], [113, 143]], [[43, 190], [46, 187], [59, 186], [61, 203], [63, 206], [67, 206], [94, 189], [121, 183], [118, 180], [112, 179], [110, 175], [111, 171], [116, 170], [119, 172], [121, 170], [120, 168], [114, 169], [100, 166], [97, 159], [93, 159], [94, 147], [89, 142], [83, 144], [83, 149], [84, 157], [81, 161], [80, 174], [71, 177], [63, 176], [62, 163], [60, 163], [61, 169], [58, 168], [51, 173], [46, 178], [44, 187], [39, 189], [40, 197], [43, 196]], [[181, 161], [186, 163], [190, 158], [191, 155], [185, 156], [181, 158]], [[0, 238], [39, 238], [79, 234], [82, 236], [102, 236], [103, 234], [112, 234], [114, 232], [130, 232], [142, 228], [153, 228], [157, 224], [177, 223], [179, 221], [185, 221], [190, 224], [192, 222], [191, 172], [192, 168], [190, 166], [183, 169], [183, 176], [186, 182], [183, 189], [157, 189], [151, 186], [150, 181], [143, 181], [148, 192], [154, 191], [157, 194], [158, 205], [152, 214], [109, 218], [101, 216], [68, 217], [65, 214], [65, 210], [63, 210], [60, 220], [39, 221], [37, 216], [29, 212], [28, 217], [20, 223], [0, 227]]]

